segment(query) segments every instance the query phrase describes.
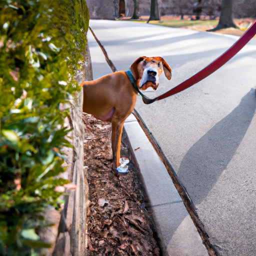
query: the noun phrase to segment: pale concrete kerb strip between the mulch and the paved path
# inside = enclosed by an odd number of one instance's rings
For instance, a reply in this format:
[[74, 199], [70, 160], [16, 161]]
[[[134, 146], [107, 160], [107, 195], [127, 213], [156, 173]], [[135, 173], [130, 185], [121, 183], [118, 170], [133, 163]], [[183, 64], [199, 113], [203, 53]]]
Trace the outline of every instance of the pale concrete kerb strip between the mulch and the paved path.
[[133, 114], [126, 119], [124, 128], [131, 149], [135, 149], [134, 154], [161, 240], [163, 255], [208, 255], [164, 164]]

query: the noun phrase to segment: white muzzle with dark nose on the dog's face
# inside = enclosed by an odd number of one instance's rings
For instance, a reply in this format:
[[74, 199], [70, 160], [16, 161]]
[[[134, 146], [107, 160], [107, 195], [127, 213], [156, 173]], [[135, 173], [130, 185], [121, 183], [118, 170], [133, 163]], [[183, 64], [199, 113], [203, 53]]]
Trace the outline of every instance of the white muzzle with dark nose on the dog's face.
[[[151, 86], [153, 89], [156, 89], [158, 86], [158, 83], [159, 83], [158, 70], [153, 67], [148, 67], [143, 71], [143, 75], [140, 80], [138, 88], [142, 89], [143, 85], [147, 85], [143, 87], [148, 88], [149, 86]], [[143, 89], [146, 89], [146, 88], [143, 88]]]

